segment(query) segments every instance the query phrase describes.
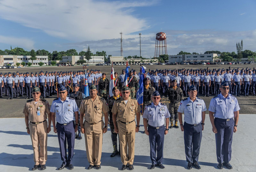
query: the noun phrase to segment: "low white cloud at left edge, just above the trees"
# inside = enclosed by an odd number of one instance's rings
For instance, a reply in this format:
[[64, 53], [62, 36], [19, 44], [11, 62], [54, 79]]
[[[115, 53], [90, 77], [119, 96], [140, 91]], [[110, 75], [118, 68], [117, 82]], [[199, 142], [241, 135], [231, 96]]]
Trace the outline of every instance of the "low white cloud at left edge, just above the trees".
[[13, 45], [15, 47], [18, 46], [28, 50], [35, 49], [35, 42], [27, 38], [17, 38], [0, 35], [0, 43]]

